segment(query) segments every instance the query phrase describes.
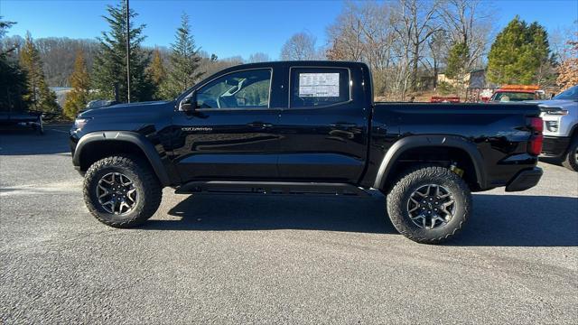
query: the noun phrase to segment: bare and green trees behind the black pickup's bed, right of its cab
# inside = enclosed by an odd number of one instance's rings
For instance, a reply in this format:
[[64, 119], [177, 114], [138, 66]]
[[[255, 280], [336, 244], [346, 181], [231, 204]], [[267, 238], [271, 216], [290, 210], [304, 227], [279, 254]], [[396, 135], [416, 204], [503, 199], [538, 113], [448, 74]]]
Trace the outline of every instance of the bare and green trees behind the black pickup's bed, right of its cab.
[[[281, 59], [364, 61], [376, 94], [391, 100], [432, 88], [460, 93], [471, 70], [487, 69], [488, 81], [496, 85], [555, 85], [568, 69], [560, 69], [564, 58], [551, 50], [545, 28], [516, 16], [490, 44], [495, 17], [489, 5], [480, 0], [346, 2], [327, 27], [327, 44], [318, 47], [313, 35], [299, 32], [284, 43]], [[455, 85], [437, 85], [440, 72]]]

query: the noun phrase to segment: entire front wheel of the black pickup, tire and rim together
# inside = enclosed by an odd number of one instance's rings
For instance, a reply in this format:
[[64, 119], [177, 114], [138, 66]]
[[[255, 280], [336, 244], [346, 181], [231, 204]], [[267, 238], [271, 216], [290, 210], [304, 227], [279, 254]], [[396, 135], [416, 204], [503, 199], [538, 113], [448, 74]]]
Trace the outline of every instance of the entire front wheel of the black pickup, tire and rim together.
[[163, 191], [147, 163], [117, 155], [93, 163], [84, 179], [84, 200], [98, 221], [115, 228], [135, 227], [154, 215]]

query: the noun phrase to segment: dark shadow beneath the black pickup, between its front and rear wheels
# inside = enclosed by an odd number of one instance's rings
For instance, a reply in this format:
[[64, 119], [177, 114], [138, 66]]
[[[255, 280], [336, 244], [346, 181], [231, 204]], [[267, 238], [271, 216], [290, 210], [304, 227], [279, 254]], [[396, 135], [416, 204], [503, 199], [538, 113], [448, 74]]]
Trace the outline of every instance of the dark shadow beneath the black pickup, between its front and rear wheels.
[[191, 195], [169, 211], [180, 220], [150, 220], [144, 228], [395, 233], [385, 213], [383, 197], [207, 194]]

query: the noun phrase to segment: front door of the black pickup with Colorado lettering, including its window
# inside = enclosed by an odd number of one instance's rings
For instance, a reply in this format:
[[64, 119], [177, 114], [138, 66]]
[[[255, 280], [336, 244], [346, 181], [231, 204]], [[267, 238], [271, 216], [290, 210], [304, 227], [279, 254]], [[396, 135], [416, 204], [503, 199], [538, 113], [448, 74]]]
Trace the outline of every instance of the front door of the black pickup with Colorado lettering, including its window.
[[270, 107], [272, 69], [238, 70], [183, 99], [173, 119], [173, 159], [182, 181], [274, 180], [279, 110]]

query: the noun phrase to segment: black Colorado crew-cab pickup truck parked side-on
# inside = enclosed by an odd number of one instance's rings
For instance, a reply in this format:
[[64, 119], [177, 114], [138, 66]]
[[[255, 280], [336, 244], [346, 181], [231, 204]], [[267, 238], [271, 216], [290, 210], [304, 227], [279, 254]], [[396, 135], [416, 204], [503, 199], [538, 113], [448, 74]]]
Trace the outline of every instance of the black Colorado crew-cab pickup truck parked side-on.
[[542, 120], [529, 104], [373, 100], [368, 66], [293, 61], [219, 71], [172, 101], [88, 110], [72, 162], [101, 222], [129, 228], [177, 193], [381, 191], [396, 229], [439, 243], [471, 215], [471, 191], [536, 185]]

